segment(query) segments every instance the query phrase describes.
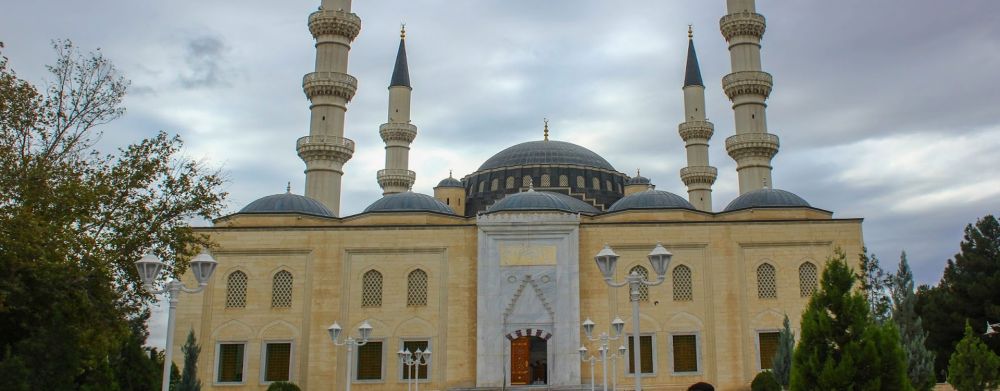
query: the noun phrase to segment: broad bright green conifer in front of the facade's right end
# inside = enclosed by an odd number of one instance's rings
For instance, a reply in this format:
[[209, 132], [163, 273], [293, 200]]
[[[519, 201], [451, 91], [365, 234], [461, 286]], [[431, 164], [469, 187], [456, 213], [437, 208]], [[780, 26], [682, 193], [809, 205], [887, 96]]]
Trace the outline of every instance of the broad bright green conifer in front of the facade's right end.
[[879, 325], [838, 249], [827, 260], [820, 290], [802, 314], [802, 338], [792, 359], [790, 389], [910, 390], [899, 334]]

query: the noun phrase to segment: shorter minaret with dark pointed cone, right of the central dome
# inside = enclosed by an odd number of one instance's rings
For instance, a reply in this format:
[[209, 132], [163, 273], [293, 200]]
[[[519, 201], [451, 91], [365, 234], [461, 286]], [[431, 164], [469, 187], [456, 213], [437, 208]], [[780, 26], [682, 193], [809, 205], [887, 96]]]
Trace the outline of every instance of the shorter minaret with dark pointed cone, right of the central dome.
[[681, 169], [681, 180], [688, 187], [688, 200], [698, 210], [711, 212], [712, 184], [718, 170], [708, 165], [708, 140], [715, 132], [715, 125], [705, 118], [705, 83], [701, 81], [691, 26], [688, 26], [688, 59], [684, 71], [684, 122], [677, 130], [687, 143], [688, 165]]

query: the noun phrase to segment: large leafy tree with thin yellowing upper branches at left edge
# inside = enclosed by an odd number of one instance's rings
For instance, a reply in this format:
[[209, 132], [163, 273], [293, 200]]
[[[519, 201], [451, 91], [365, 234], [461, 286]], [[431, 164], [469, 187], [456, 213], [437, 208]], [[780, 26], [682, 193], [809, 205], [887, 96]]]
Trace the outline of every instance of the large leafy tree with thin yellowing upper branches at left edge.
[[222, 179], [178, 158], [180, 140], [164, 133], [95, 150], [99, 127], [124, 113], [129, 83], [99, 52], [53, 46], [44, 92], [0, 56], [0, 379], [19, 382], [13, 389], [155, 389], [132, 384], [149, 377], [148, 362], [130, 360], [148, 357], [152, 299], [133, 262], [152, 251], [183, 272], [209, 245], [187, 221], [218, 214]]

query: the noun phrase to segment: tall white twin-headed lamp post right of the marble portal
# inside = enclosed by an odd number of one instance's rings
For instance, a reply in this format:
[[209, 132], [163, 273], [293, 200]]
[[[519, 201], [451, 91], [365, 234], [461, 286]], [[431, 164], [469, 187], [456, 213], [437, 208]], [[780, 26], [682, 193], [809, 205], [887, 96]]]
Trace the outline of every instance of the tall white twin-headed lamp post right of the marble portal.
[[649, 264], [653, 267], [653, 271], [656, 272], [656, 280], [648, 281], [642, 278], [637, 272], [630, 273], [625, 277], [623, 282], [614, 282], [611, 278], [615, 274], [615, 266], [618, 264], [618, 254], [615, 254], [611, 250], [611, 246], [607, 244], [601, 249], [596, 256], [594, 256], [594, 261], [597, 262], [597, 268], [601, 270], [601, 274], [604, 275], [604, 282], [613, 288], [623, 287], [628, 285], [629, 287], [629, 300], [632, 301], [632, 364], [634, 367], [633, 373], [635, 374], [635, 390], [642, 390], [642, 365], [640, 362], [640, 343], [639, 343], [639, 289], [642, 286], [656, 286], [663, 283], [667, 275], [667, 266], [670, 264], [670, 258], [673, 254], [667, 249], [663, 248], [663, 245], [656, 243], [656, 247], [653, 251], [649, 253], [647, 258], [649, 258]]

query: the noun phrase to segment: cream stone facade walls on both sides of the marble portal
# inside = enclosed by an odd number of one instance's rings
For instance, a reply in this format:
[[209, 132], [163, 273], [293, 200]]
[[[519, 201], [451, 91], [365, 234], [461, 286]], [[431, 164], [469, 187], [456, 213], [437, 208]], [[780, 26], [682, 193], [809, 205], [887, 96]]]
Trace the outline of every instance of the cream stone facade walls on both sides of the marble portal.
[[[777, 330], [784, 314], [798, 331], [807, 298], [799, 294], [798, 267], [816, 264], [818, 273], [835, 248], [861, 251], [861, 220], [832, 219], [815, 209], [758, 209], [708, 214], [690, 211], [623, 212], [581, 217], [579, 226], [580, 317], [607, 330], [621, 316], [632, 330], [625, 288], [602, 281], [593, 255], [609, 244], [621, 256], [618, 280], [633, 265], [649, 269], [646, 254], [661, 242], [674, 253], [667, 281], [649, 288], [640, 304], [641, 331], [655, 336], [655, 374], [649, 389], [686, 389], [698, 381], [719, 390], [743, 390], [759, 371], [758, 331]], [[402, 390], [395, 352], [403, 339], [427, 338], [434, 352], [425, 389], [474, 387], [476, 384], [475, 219], [431, 213], [365, 214], [346, 219], [287, 215], [237, 215], [219, 219], [203, 232], [218, 245], [219, 268], [202, 294], [184, 295], [178, 308], [175, 351], [189, 329], [202, 344], [199, 375], [205, 389], [264, 390], [261, 361], [267, 341], [291, 341], [292, 381], [303, 389], [343, 389], [346, 349], [334, 349], [326, 329], [334, 321], [344, 334], [356, 335], [364, 320], [374, 339], [384, 341], [383, 380], [355, 382], [356, 390]], [[852, 257], [852, 259], [855, 259]], [[776, 299], [757, 297], [756, 268], [762, 262], [777, 270]], [[671, 271], [692, 271], [693, 300], [674, 301]], [[427, 272], [428, 303], [407, 307], [407, 274]], [[225, 308], [226, 278], [247, 274], [246, 308]], [[271, 308], [272, 277], [288, 270], [294, 277], [292, 307]], [[382, 306], [361, 307], [361, 275], [383, 275]], [[187, 277], [190, 279], [190, 276]], [[579, 329], [573, 332], [580, 332]], [[672, 374], [670, 337], [697, 335], [699, 370]], [[583, 335], [581, 333], [581, 339]], [[215, 380], [217, 344], [245, 342], [246, 371], [239, 385]], [[618, 344], [613, 343], [613, 348]], [[589, 344], [591, 351], [597, 345]], [[181, 365], [181, 355], [175, 355]], [[625, 362], [618, 379], [630, 383]], [[581, 381], [590, 380], [581, 365]], [[600, 382], [600, 365], [596, 367]], [[610, 368], [609, 368], [610, 372]], [[610, 375], [609, 375], [610, 376]]]

